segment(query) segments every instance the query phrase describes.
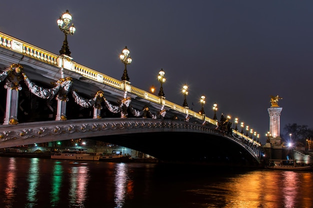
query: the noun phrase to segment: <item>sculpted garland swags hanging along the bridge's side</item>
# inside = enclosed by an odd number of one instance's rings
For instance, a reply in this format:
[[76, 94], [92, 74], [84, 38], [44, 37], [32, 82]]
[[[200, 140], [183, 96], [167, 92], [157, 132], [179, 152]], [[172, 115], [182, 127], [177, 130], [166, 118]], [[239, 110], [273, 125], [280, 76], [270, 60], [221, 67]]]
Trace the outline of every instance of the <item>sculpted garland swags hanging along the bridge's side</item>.
[[[15, 73], [14, 73], [15, 72]], [[96, 92], [95, 96], [92, 99], [85, 99], [78, 95], [78, 93], [75, 90], [71, 90], [72, 88], [72, 78], [66, 77], [61, 78], [57, 82], [54, 83], [54, 87], [47, 89], [42, 88], [35, 83], [31, 82], [29, 78], [26, 76], [26, 74], [23, 72], [23, 67], [19, 64], [12, 64], [6, 71], [2, 72], [0, 74], [0, 82], [3, 81], [7, 76], [10, 77], [10, 80], [16, 76], [19, 80], [19, 76], [21, 74], [22, 79], [24, 80], [27, 88], [29, 91], [36, 95], [37, 97], [40, 97], [42, 99], [50, 99], [52, 97], [56, 96], [56, 99], [62, 100], [62, 101], [68, 101], [67, 94], [69, 91], [71, 91], [72, 97], [74, 98], [74, 102], [77, 103], [79, 106], [83, 108], [89, 108], [94, 107], [96, 109], [102, 109], [101, 102], [104, 101], [106, 108], [112, 112], [112, 113], [120, 113], [121, 118], [127, 118], [128, 113], [127, 109], [130, 106], [131, 99], [123, 98], [122, 100], [118, 101], [119, 105], [112, 105], [109, 101], [105, 99], [103, 96], [103, 91], [99, 90]], [[19, 86], [18, 82], [10, 83], [7, 80], [7, 87], [10, 87], [11, 89], [15, 90], [21, 90], [21, 87]], [[144, 106], [144, 108], [139, 111], [130, 106], [130, 112], [135, 117], [143, 117], [143, 118], [164, 118], [166, 111], [161, 110], [158, 112], [158, 114], [152, 114], [147, 106]], [[97, 115], [97, 118], [101, 118], [99, 115]], [[66, 120], [65, 115], [61, 115], [61, 120]], [[11, 119], [9, 121], [9, 124], [17, 124], [16, 119]]]

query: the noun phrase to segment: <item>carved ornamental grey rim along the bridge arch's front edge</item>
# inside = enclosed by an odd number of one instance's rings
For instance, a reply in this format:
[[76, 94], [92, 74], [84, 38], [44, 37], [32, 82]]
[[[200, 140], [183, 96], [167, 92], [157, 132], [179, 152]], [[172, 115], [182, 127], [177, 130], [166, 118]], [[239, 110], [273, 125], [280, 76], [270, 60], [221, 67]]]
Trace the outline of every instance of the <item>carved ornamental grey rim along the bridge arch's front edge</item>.
[[[144, 132], [144, 129], [154, 129], [154, 131], [182, 131], [188, 129], [194, 132], [215, 132], [208, 126], [201, 124], [193, 124], [184, 121], [171, 121], [161, 119], [81, 119], [81, 120], [66, 120], [66, 121], [45, 121], [33, 123], [21, 123], [10, 126], [9, 131], [6, 131], [7, 126], [0, 127], [0, 147], [3, 142], [10, 139], [27, 139], [40, 138], [48, 136], [57, 136], [64, 134], [86, 133], [92, 132], [92, 136], [100, 135], [115, 135]], [[114, 131], [112, 131], [114, 130]], [[96, 133], [98, 132], [98, 133]], [[151, 132], [148, 130], [146, 132]], [[217, 133], [216, 133], [217, 134]], [[81, 136], [81, 135], [80, 135]], [[66, 138], [67, 139], [67, 138]]]

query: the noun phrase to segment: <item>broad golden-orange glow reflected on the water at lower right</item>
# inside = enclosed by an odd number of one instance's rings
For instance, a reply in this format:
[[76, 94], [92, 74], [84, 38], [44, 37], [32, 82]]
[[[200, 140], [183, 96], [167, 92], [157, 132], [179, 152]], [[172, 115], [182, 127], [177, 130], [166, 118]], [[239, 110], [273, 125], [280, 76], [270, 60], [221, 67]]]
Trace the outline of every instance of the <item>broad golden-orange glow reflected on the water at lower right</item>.
[[212, 208], [311, 208], [312, 185], [311, 172], [253, 171], [193, 192], [214, 196]]

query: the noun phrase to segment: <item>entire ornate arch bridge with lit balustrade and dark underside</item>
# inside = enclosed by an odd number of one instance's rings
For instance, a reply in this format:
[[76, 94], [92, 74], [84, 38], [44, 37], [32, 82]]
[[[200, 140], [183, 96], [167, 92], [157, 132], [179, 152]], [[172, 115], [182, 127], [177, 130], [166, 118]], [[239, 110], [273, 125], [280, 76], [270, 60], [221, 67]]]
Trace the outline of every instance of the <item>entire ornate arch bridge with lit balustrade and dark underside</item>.
[[0, 148], [90, 138], [164, 161], [260, 163], [242, 132], [4, 33], [0, 93]]

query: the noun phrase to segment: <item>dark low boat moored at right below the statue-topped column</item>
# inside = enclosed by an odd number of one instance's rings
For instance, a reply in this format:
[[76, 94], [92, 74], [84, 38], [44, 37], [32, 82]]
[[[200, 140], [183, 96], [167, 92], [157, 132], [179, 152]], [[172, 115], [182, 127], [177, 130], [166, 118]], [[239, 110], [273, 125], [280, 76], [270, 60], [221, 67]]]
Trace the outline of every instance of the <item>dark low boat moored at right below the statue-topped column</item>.
[[285, 171], [301, 171], [301, 170], [313, 170], [312, 166], [306, 164], [297, 164], [296, 160], [269, 160], [266, 169], [272, 170], [285, 170]]

